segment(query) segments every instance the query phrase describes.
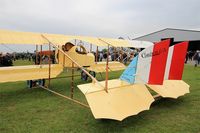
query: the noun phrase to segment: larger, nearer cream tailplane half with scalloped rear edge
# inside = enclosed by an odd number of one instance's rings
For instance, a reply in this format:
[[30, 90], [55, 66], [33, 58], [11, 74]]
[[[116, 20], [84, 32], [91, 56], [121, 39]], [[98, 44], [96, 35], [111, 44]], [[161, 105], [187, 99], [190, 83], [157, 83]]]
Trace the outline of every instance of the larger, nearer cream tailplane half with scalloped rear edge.
[[[100, 82], [104, 85], [105, 81]], [[130, 85], [119, 79], [108, 80], [108, 93], [95, 83], [78, 85], [96, 119], [123, 120], [148, 110], [154, 98], [145, 85]]]

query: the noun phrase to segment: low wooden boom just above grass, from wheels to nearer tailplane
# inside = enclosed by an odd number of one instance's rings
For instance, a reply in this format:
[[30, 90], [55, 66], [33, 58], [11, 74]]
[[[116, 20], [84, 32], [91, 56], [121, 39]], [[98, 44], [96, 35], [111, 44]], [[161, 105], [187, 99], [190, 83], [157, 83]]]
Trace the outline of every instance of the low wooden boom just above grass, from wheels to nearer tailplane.
[[62, 94], [60, 94], [60, 93], [58, 93], [58, 92], [55, 92], [55, 91], [53, 91], [53, 90], [50, 90], [50, 89], [44, 87], [44, 86], [41, 86], [41, 85], [40, 85], [39, 87], [41, 87], [41, 88], [43, 88], [43, 89], [45, 89], [45, 90], [47, 90], [47, 91], [49, 91], [49, 92], [51, 92], [51, 93], [54, 93], [54, 94], [56, 94], [56, 95], [58, 95], [58, 96], [60, 96], [60, 97], [63, 97], [63, 98], [68, 99], [68, 100], [70, 100], [70, 101], [73, 101], [73, 102], [75, 102], [75, 103], [77, 103], [77, 104], [79, 104], [79, 105], [81, 105], [81, 106], [84, 106], [84, 107], [86, 107], [86, 108], [90, 108], [89, 105], [84, 104], [84, 103], [81, 103], [81, 102], [78, 101], [78, 100], [75, 100], [75, 99], [72, 99], [72, 98], [70, 98], [70, 97], [68, 97], [68, 96], [62, 95]]

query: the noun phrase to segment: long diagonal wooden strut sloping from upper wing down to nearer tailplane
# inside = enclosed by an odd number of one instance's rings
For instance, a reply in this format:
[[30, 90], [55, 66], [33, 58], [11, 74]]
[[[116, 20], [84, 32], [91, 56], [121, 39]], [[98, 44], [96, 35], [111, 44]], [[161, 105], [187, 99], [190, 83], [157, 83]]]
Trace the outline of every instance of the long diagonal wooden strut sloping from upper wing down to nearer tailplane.
[[65, 53], [61, 48], [59, 48], [57, 45], [53, 44], [48, 38], [46, 38], [44, 35], [41, 35], [45, 40], [49, 42], [49, 44], [53, 45], [55, 48], [60, 50], [68, 59], [70, 59], [76, 66], [78, 66], [84, 73], [86, 73], [94, 83], [97, 83], [100, 87], [104, 88], [97, 79], [95, 79], [88, 71], [86, 71], [81, 65], [79, 65], [76, 61], [74, 61], [67, 53]]

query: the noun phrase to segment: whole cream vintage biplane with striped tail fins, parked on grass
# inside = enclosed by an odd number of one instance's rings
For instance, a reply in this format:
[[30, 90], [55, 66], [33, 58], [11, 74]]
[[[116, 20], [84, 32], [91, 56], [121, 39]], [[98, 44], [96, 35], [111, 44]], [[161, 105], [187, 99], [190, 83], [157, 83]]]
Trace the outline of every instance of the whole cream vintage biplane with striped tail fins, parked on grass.
[[[83, 46], [75, 46], [72, 40], [81, 40], [96, 46], [145, 48], [129, 66], [120, 62], [95, 62], [94, 55], [87, 53]], [[120, 39], [66, 36], [59, 34], [14, 32], [0, 30], [1, 44], [36, 44], [49, 45], [56, 49], [57, 64], [51, 64], [50, 52], [47, 65], [13, 66], [0, 68], [0, 83], [22, 80], [48, 79], [48, 86], [38, 84], [56, 95], [75, 103], [89, 107], [96, 119], [106, 118], [123, 120], [148, 110], [155, 96], [149, 89], [161, 97], [177, 98], [189, 93], [189, 85], [182, 81], [184, 59], [188, 42], [169, 47], [170, 40], [158, 43], [130, 41]], [[82, 50], [80, 50], [82, 49]], [[73, 71], [71, 97], [59, 94], [50, 88], [50, 79], [58, 76], [64, 67], [80, 68], [92, 83], [78, 85], [89, 105], [73, 99]], [[119, 79], [109, 80], [109, 71], [122, 70]], [[99, 82], [89, 71], [105, 72], [105, 81]]]

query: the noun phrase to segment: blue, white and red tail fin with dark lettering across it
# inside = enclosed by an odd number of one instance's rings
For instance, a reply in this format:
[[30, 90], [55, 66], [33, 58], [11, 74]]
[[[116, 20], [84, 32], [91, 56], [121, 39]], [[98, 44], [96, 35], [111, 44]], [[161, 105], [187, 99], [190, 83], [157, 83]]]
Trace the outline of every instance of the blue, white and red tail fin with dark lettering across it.
[[162, 84], [170, 40], [150, 46], [133, 59], [120, 79], [129, 83]]

